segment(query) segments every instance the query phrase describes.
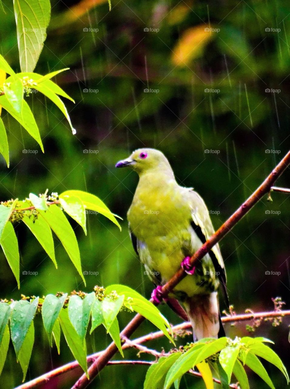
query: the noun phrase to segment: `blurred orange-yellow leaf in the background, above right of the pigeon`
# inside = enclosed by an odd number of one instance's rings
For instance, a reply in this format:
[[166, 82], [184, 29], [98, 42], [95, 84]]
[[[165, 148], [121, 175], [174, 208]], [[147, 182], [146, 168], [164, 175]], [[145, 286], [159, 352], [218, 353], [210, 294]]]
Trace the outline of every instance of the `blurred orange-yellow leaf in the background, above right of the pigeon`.
[[212, 29], [204, 24], [188, 28], [173, 49], [172, 62], [180, 66], [188, 65], [191, 60], [203, 53], [203, 49], [214, 34]]

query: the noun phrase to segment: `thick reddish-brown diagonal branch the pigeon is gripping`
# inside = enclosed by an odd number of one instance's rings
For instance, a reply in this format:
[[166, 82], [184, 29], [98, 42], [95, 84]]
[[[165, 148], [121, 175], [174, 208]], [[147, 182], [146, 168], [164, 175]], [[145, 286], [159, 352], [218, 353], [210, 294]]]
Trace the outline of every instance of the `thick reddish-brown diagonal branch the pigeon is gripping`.
[[[283, 159], [278, 163], [274, 170], [269, 174], [269, 176], [262, 182], [262, 184], [255, 190], [254, 193], [227, 219], [227, 221], [222, 224], [222, 226], [203, 244], [198, 251], [194, 253], [191, 257], [190, 264], [193, 265], [196, 261], [202, 259], [212, 247], [217, 244], [237, 223], [242, 219], [247, 212], [254, 207], [254, 205], [270, 191], [274, 182], [278, 177], [284, 172], [287, 166], [290, 163], [290, 151], [285, 155]], [[186, 273], [180, 268], [175, 275], [162, 287], [163, 296], [166, 297], [172, 289], [186, 277]], [[151, 300], [152, 301], [152, 300]], [[140, 314], [135, 315], [132, 321], [127, 324], [127, 326], [121, 332], [121, 336], [126, 336], [129, 338], [136, 328], [144, 321], [144, 317]], [[88, 369], [89, 379], [85, 374], [82, 375], [73, 385], [72, 389], [84, 389], [87, 385], [92, 382], [96, 375], [101, 371], [108, 361], [116, 354], [118, 351], [114, 342], [112, 342], [107, 349], [102, 352], [102, 354], [96, 359], [94, 363]]]

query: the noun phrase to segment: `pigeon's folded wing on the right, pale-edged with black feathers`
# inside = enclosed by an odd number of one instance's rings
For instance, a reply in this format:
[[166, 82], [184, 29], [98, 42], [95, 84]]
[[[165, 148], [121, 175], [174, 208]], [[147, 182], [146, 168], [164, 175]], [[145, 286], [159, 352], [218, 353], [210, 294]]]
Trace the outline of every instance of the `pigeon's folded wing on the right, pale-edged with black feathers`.
[[[214, 226], [210, 219], [207, 206], [201, 196], [193, 190], [190, 193], [190, 206], [192, 222], [191, 226], [196, 235], [200, 238], [202, 243], [205, 243], [208, 238], [215, 232]], [[221, 250], [219, 244], [215, 244], [209, 252], [212, 263], [214, 264], [215, 272], [217, 272], [219, 281], [221, 283], [224, 300], [227, 307], [229, 306], [229, 299], [226, 290], [226, 271], [224, 268], [224, 261], [222, 260]]]

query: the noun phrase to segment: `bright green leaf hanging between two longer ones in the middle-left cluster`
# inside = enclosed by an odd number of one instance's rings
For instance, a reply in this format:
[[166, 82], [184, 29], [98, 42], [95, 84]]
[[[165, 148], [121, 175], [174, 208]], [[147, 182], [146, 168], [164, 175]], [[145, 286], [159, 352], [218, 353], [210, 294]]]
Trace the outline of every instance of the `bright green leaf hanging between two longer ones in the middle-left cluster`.
[[33, 217], [29, 218], [28, 216], [24, 216], [22, 221], [42, 245], [43, 249], [57, 268], [56, 256], [54, 254], [54, 241], [50, 226], [43, 217], [38, 217], [33, 220]]

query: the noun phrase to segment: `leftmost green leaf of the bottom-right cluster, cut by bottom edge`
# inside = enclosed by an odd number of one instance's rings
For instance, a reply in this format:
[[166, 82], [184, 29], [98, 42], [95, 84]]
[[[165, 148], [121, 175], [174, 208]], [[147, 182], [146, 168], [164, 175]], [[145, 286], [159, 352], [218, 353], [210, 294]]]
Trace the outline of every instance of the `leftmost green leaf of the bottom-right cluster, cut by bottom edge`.
[[163, 387], [167, 371], [180, 355], [180, 352], [174, 352], [168, 357], [159, 358], [157, 363], [153, 363], [147, 370], [144, 389], [159, 389]]

